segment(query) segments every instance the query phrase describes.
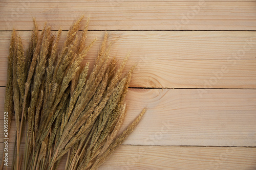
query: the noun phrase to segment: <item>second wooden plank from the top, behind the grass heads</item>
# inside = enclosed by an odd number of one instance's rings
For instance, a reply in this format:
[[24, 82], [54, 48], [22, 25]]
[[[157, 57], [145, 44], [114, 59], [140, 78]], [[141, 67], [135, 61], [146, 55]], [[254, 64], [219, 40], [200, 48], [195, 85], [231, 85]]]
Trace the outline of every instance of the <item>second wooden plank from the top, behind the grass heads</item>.
[[[11, 32], [0, 32], [0, 86], [6, 85], [10, 34]], [[102, 34], [102, 32], [89, 33], [89, 42], [94, 37], [100, 38], [88, 54], [88, 61], [94, 61], [98, 54]], [[20, 35], [27, 46], [30, 32], [20, 32]], [[183, 39], [188, 36], [190, 38], [184, 42]], [[223, 38], [225, 36], [226, 38]], [[132, 51], [127, 67], [133, 64], [138, 66], [131, 87], [256, 87], [255, 32], [209, 34], [114, 31], [110, 32], [110, 39], [114, 41], [112, 54], [118, 58], [123, 58], [128, 51]], [[64, 36], [61, 43], [63, 41]]]

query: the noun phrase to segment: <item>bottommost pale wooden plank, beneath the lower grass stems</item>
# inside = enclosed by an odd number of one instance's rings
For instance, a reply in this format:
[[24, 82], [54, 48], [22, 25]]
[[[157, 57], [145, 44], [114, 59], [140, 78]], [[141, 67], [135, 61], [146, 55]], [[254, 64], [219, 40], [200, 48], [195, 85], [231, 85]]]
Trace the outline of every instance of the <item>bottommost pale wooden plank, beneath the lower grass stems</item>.
[[[13, 143], [9, 144], [9, 165]], [[4, 144], [0, 143], [0, 151]], [[22, 144], [21, 151], [24, 151]], [[63, 158], [66, 159], [66, 156]], [[255, 169], [256, 148], [161, 147], [121, 145], [99, 168], [108, 169]], [[2, 156], [0, 158], [2, 160]], [[58, 169], [65, 168], [62, 160]]]

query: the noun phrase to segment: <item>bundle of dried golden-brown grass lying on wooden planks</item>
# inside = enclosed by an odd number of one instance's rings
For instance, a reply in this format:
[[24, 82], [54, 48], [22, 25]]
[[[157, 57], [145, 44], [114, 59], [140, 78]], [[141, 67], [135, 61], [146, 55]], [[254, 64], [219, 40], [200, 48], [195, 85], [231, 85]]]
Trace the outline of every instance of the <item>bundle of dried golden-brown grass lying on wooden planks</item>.
[[[5, 98], [5, 110], [14, 111], [17, 127], [12, 169], [56, 169], [65, 154], [65, 169], [97, 169], [145, 113], [144, 109], [117, 136], [134, 66], [123, 74], [129, 55], [120, 66], [115, 57], [110, 59], [111, 44], [106, 44], [105, 33], [88, 75], [89, 63], [82, 61], [95, 40], [85, 45], [89, 20], [80, 35], [82, 19], [70, 27], [60, 50], [61, 30], [53, 35], [47, 24], [39, 32], [34, 20], [26, 51], [17, 32], [12, 33]], [[25, 152], [21, 153], [24, 133]]]

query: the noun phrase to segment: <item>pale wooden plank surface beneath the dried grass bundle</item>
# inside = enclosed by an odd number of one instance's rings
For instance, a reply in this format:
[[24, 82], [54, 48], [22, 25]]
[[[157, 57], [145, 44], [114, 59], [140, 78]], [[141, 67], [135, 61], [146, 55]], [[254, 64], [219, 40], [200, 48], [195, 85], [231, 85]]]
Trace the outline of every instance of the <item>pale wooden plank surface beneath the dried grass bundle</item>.
[[[26, 45], [32, 17], [41, 26], [49, 21], [52, 30], [68, 30], [85, 14], [91, 16], [88, 40], [98, 38], [88, 61], [93, 64], [102, 31], [112, 30], [112, 54], [122, 59], [131, 51], [128, 65], [138, 65], [122, 129], [148, 107], [100, 169], [256, 169], [255, 1], [71, 2], [0, 2], [0, 127], [10, 30], [20, 30]], [[10, 156], [14, 129], [12, 124]]]

